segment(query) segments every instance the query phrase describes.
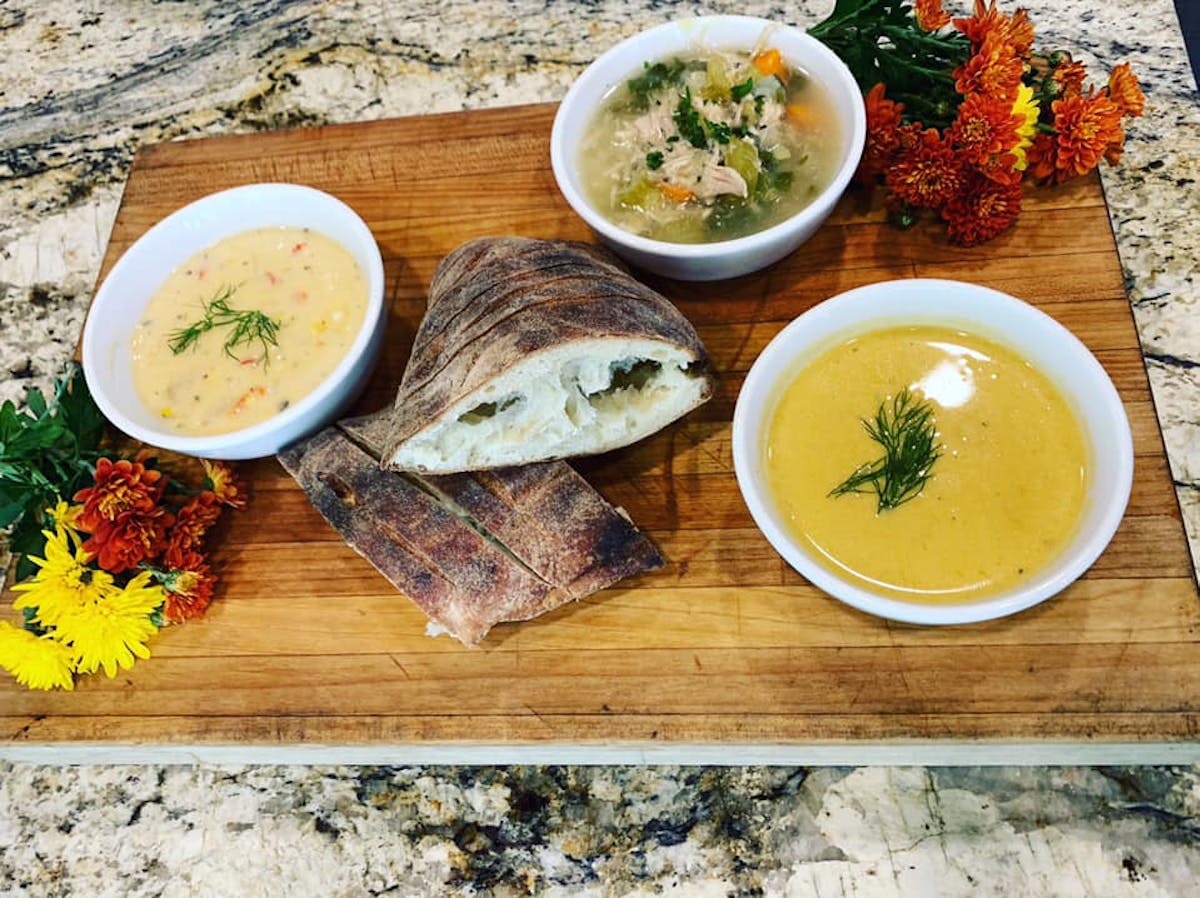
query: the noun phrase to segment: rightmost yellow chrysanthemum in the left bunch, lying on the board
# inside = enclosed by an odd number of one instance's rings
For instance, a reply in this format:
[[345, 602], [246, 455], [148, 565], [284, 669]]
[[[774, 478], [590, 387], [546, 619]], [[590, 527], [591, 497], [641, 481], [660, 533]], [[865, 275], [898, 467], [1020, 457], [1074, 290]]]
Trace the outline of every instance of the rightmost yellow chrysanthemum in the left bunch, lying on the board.
[[150, 582], [143, 570], [124, 588], [97, 589], [95, 597], [65, 613], [55, 623], [55, 634], [74, 647], [80, 674], [104, 669], [109, 678], [118, 667], [132, 667], [133, 658], [149, 658], [145, 642], [158, 628], [150, 619], [166, 601], [167, 594]]

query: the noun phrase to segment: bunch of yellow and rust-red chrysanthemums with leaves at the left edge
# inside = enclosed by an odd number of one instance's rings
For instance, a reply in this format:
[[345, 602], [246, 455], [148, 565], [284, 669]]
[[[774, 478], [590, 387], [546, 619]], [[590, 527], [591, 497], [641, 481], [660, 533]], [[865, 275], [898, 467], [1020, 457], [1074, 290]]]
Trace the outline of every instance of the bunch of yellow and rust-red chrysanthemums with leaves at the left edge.
[[102, 448], [76, 365], [50, 401], [31, 390], [26, 406], [0, 407], [0, 527], [20, 555], [24, 621], [0, 621], [0, 667], [31, 689], [72, 689], [79, 674], [116, 676], [149, 657], [161, 627], [204, 613], [216, 585], [205, 537], [246, 491], [224, 462], [202, 460], [190, 486], [145, 451]]

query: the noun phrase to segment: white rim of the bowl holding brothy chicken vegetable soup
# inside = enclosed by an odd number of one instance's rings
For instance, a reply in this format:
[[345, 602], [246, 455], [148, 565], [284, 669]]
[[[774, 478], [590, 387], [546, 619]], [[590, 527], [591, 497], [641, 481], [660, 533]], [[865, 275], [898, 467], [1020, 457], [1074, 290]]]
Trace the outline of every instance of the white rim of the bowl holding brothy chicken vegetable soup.
[[[605, 73], [613, 67], [616, 60], [626, 53], [631, 47], [653, 42], [662, 35], [679, 32], [683, 29], [700, 30], [701, 28], [719, 28], [721, 24], [727, 23], [734, 23], [740, 26], [754, 25], [763, 31], [773, 30], [787, 32], [791, 38], [799, 40], [802, 43], [806, 44], [808, 49], [826, 58], [833, 70], [839, 73], [839, 78], [847, 85], [852, 86], [851, 95], [857, 98], [857, 102], [852, 103], [850, 108], [851, 140], [845, 158], [834, 173], [833, 179], [828, 185], [826, 185], [826, 188], [821, 191], [821, 193], [818, 193], [811, 203], [784, 221], [772, 224], [769, 228], [763, 228], [762, 231], [756, 231], [743, 237], [728, 240], [713, 240], [703, 244], [677, 244], [671, 243], [670, 240], [654, 240], [648, 237], [634, 234], [622, 227], [618, 227], [617, 224], [613, 224], [593, 208], [592, 203], [582, 194], [581, 191], [575, 188], [572, 179], [570, 178], [574, 161], [568, 158], [566, 148], [568, 143], [575, 136], [569, 134], [566, 131], [565, 120], [568, 113], [571, 110], [571, 107], [580, 101], [580, 95], [584, 91], [584, 89], [587, 89], [589, 83], [604, 78]], [[722, 44], [719, 41], [713, 41], [709, 46]], [[787, 54], [785, 53], [784, 55], [786, 56]], [[625, 67], [623, 67], [623, 71], [624, 68]], [[629, 72], [625, 71], [622, 78], [628, 74]], [[576, 215], [583, 218], [588, 227], [599, 233], [602, 238], [642, 253], [668, 255], [679, 259], [703, 259], [713, 256], [714, 252], [719, 252], [720, 255], [736, 255], [743, 250], [757, 249], [760, 244], [773, 243], [790, 232], [803, 227], [812, 218], [816, 218], [818, 214], [822, 212], [823, 205], [829, 203], [829, 198], [832, 197], [833, 202], [836, 202], [836, 198], [841, 197], [846, 187], [850, 185], [850, 180], [854, 176], [854, 172], [857, 170], [859, 160], [862, 158], [865, 140], [866, 104], [863, 100], [862, 91], [859, 90], [850, 68], [836, 53], [829, 49], [829, 47], [796, 25], [773, 22], [758, 16], [712, 14], [694, 16], [654, 25], [653, 28], [638, 31], [637, 34], [624, 38], [596, 56], [595, 60], [593, 60], [571, 83], [566, 95], [558, 106], [558, 110], [554, 113], [554, 121], [550, 132], [550, 161], [554, 180], [568, 204], [575, 210]]]

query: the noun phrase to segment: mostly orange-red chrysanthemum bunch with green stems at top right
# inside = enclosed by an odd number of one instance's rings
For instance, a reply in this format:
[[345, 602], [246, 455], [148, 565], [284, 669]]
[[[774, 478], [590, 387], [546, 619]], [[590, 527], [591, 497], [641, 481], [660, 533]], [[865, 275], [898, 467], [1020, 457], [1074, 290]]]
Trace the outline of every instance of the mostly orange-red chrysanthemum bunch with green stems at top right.
[[952, 18], [942, 0], [838, 0], [809, 29], [853, 72], [866, 102], [857, 179], [882, 185], [890, 218], [938, 215], [962, 246], [1007, 231], [1026, 182], [1058, 184], [1115, 164], [1124, 120], [1145, 97], [1128, 64], [1105, 86], [1069, 53], [1038, 53], [1025, 10], [974, 0]]

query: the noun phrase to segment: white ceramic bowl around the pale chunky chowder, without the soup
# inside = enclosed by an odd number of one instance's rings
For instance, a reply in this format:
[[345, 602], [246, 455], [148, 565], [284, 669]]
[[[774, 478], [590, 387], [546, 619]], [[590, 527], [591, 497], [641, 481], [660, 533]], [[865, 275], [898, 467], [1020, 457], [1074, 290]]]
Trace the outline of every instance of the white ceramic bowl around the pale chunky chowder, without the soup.
[[[162, 429], [133, 388], [130, 341], [146, 301], [181, 263], [216, 241], [252, 228], [306, 227], [332, 238], [362, 269], [367, 310], [349, 352], [302, 400], [262, 424], [187, 437]], [[340, 199], [295, 184], [252, 184], [212, 193], [151, 227], [113, 265], [88, 312], [83, 371], [104, 417], [128, 436], [186, 455], [254, 459], [272, 455], [340, 414], [366, 383], [383, 346], [386, 306], [383, 259], [371, 231]]]

